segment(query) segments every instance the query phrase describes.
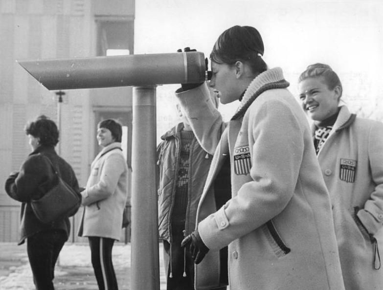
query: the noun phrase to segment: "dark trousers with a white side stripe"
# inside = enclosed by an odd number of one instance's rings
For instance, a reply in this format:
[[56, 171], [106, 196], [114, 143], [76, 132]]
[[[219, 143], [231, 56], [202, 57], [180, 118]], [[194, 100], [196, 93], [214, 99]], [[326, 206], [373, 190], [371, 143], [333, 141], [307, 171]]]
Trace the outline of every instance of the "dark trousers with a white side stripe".
[[102, 237], [88, 237], [94, 275], [99, 290], [118, 290], [112, 263], [114, 240]]

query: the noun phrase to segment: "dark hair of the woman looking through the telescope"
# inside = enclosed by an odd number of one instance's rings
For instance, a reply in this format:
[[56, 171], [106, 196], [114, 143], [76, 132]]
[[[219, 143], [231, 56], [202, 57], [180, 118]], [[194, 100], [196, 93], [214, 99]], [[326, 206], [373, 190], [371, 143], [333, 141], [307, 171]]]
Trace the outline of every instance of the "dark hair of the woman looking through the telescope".
[[234, 65], [248, 62], [253, 72], [264, 72], [267, 65], [262, 59], [264, 46], [261, 34], [251, 26], [235, 25], [226, 29], [217, 39], [210, 53], [211, 61]]

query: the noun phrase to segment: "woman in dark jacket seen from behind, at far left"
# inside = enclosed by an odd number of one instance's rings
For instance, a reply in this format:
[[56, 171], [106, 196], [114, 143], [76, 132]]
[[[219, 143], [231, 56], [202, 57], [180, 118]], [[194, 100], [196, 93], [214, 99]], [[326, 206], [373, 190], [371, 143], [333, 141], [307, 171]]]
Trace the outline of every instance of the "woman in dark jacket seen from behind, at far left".
[[[78, 193], [79, 187], [72, 167], [54, 149], [59, 141], [56, 124], [42, 115], [26, 125], [25, 133], [29, 137], [32, 153], [24, 161], [20, 171], [11, 173], [7, 178], [5, 191], [12, 199], [22, 202], [19, 245], [26, 239], [36, 289], [54, 290], [54, 267], [64, 243], [68, 240], [69, 219], [42, 223], [33, 212], [30, 201], [44, 195], [42, 184], [45, 184], [46, 189], [57, 181], [51, 163], [61, 178]], [[75, 213], [76, 210], [72, 215]]]

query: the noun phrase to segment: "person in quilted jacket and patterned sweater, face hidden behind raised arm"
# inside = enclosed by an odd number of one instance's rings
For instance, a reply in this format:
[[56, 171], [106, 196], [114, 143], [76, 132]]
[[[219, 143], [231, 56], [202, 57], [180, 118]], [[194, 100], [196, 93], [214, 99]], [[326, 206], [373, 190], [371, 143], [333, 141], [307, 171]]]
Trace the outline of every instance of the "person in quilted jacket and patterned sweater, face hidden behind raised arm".
[[[212, 95], [218, 106], [218, 99]], [[201, 148], [180, 105], [181, 122], [161, 136], [158, 156], [158, 230], [167, 290], [194, 290], [194, 261], [181, 247], [196, 223], [197, 205], [212, 156]]]

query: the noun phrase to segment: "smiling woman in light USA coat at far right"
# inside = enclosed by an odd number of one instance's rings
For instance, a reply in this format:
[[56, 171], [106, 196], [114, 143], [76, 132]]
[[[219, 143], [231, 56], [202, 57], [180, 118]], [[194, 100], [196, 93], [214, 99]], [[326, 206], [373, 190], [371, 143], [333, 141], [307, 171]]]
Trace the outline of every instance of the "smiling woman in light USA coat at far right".
[[302, 108], [313, 120], [312, 136], [330, 192], [344, 285], [378, 290], [383, 270], [375, 235], [383, 226], [383, 124], [339, 105], [342, 85], [325, 64], [298, 81]]

